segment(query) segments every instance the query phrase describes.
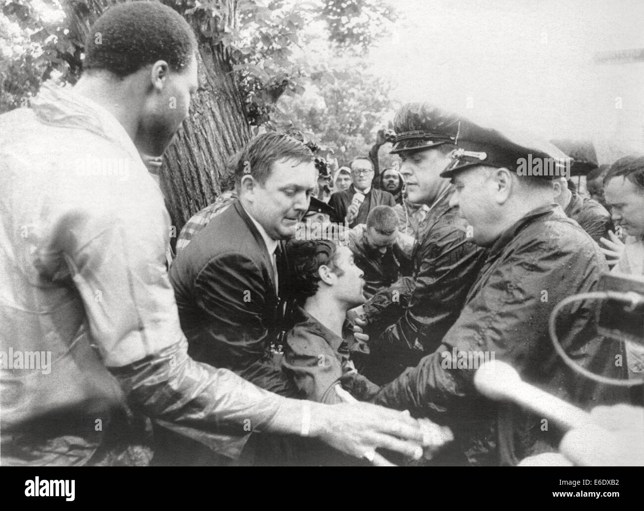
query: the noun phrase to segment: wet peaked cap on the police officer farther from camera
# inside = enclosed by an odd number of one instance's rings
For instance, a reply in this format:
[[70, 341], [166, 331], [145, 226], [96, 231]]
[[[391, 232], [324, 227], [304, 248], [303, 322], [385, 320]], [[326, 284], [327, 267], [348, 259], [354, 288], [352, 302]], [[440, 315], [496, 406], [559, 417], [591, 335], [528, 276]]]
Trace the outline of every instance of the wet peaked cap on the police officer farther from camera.
[[395, 143], [390, 153], [428, 149], [440, 144], [455, 144], [459, 118], [428, 103], [408, 103], [393, 120]]

